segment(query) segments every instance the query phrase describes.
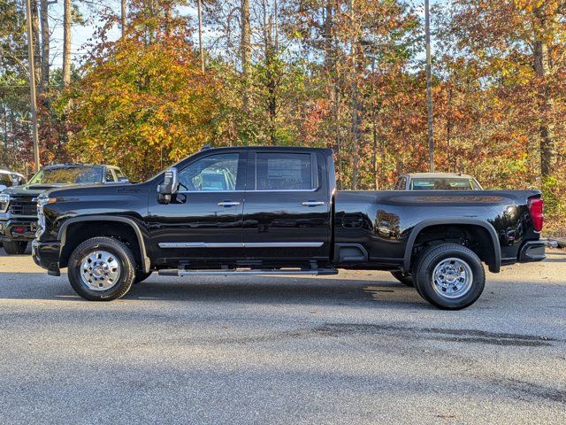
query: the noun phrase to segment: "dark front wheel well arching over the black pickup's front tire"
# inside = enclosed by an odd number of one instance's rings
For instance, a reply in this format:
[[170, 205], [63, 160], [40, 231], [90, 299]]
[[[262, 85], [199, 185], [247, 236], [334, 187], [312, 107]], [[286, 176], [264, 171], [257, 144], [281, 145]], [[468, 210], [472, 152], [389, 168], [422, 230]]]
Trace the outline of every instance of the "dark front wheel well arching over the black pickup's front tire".
[[98, 236], [112, 237], [125, 243], [134, 254], [136, 268], [142, 268], [142, 252], [134, 228], [119, 221], [84, 221], [70, 224], [66, 228], [59, 267], [67, 267], [71, 254], [80, 243]]

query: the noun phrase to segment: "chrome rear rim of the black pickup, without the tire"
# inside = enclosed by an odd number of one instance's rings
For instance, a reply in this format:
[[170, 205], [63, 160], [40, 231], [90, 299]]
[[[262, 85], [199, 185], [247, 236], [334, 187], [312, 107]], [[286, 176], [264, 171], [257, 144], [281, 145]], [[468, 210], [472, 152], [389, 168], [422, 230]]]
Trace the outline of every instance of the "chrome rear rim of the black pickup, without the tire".
[[432, 272], [432, 288], [444, 298], [460, 298], [468, 293], [474, 275], [463, 259], [443, 259]]

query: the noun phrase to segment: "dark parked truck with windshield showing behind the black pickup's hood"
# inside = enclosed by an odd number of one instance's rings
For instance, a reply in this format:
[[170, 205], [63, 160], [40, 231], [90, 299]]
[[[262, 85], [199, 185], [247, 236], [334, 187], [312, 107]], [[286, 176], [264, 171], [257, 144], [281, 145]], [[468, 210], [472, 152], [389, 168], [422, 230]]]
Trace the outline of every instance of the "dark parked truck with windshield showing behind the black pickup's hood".
[[22, 254], [37, 230], [37, 202], [47, 189], [77, 184], [127, 182], [117, 166], [57, 164], [45, 166], [23, 186], [0, 194], [0, 241], [7, 254]]

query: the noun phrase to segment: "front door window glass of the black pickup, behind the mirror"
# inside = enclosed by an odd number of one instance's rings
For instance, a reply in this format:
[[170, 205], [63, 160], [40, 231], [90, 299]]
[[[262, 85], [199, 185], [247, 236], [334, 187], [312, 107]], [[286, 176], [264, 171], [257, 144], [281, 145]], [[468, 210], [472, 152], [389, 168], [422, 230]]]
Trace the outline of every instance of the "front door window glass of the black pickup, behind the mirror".
[[237, 153], [221, 153], [186, 166], [179, 173], [180, 190], [235, 190], [238, 158]]

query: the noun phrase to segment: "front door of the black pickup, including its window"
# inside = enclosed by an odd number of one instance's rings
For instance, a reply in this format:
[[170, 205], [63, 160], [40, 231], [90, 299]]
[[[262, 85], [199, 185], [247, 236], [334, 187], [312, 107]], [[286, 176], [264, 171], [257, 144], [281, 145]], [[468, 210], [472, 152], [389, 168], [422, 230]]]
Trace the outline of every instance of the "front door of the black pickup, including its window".
[[160, 262], [241, 259], [246, 153], [201, 157], [179, 170], [168, 205], [149, 199], [149, 231]]

